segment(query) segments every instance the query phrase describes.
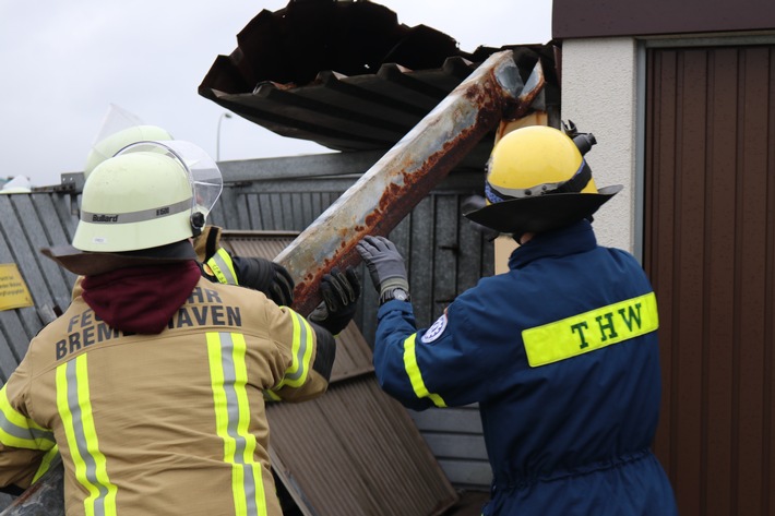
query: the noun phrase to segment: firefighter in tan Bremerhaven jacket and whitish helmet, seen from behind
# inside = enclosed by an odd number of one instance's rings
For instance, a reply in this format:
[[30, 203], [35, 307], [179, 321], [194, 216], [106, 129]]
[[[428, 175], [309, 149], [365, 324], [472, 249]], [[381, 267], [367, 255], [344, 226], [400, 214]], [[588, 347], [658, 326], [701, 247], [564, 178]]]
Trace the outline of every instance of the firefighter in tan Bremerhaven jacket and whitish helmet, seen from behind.
[[57, 445], [68, 515], [281, 515], [264, 399], [325, 392], [342, 320], [202, 277], [189, 239], [220, 176], [168, 145], [100, 164], [73, 245], [44, 251], [82, 291], [0, 391], [0, 487]]

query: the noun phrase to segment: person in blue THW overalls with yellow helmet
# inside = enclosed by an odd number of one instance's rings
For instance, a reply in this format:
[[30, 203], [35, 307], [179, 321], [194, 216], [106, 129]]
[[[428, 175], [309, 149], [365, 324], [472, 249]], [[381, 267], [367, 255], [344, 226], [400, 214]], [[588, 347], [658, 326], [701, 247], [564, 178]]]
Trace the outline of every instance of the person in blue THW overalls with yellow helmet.
[[466, 216], [521, 244], [417, 329], [404, 261], [384, 237], [358, 251], [380, 292], [374, 368], [406, 407], [478, 403], [492, 467], [484, 515], [677, 514], [651, 451], [660, 396], [658, 315], [629, 253], [597, 244], [597, 189], [563, 131], [505, 134], [487, 203]]

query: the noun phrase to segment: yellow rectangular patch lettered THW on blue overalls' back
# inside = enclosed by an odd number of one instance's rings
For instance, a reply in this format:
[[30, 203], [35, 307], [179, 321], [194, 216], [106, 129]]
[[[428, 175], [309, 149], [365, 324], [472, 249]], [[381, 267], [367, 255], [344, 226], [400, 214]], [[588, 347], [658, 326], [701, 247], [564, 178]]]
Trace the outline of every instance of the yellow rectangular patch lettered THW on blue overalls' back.
[[530, 367], [537, 368], [629, 340], [659, 327], [654, 292], [522, 332]]

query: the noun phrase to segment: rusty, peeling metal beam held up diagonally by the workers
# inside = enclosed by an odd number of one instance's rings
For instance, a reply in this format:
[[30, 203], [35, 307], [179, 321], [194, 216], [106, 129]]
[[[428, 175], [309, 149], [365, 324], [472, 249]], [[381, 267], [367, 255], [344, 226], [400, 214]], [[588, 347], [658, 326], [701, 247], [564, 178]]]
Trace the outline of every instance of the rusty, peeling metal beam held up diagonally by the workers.
[[540, 62], [529, 88], [511, 51], [491, 55], [288, 245], [275, 262], [296, 280], [294, 308], [309, 314], [333, 267], [356, 265], [356, 244], [388, 235], [503, 117], [521, 116], [544, 87]]

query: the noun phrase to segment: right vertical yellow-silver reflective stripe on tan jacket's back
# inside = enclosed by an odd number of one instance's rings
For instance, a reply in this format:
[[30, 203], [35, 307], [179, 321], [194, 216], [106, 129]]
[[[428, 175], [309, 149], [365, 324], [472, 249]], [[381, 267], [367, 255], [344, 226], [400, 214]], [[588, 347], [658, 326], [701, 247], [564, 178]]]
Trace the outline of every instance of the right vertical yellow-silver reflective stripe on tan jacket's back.
[[238, 333], [207, 333], [215, 428], [224, 442], [224, 461], [231, 465], [231, 494], [237, 516], [266, 515], [255, 435], [250, 432], [248, 346]]

